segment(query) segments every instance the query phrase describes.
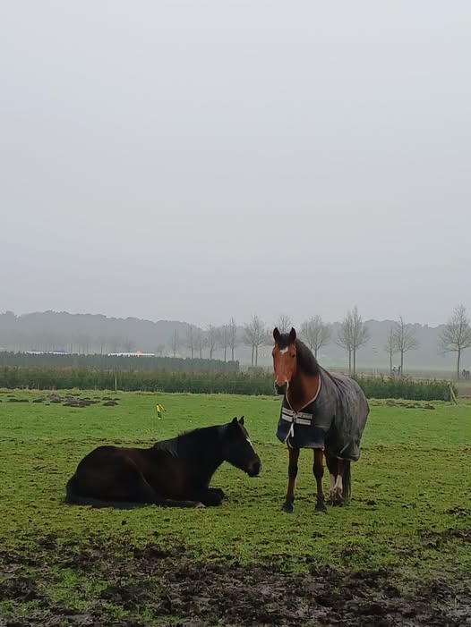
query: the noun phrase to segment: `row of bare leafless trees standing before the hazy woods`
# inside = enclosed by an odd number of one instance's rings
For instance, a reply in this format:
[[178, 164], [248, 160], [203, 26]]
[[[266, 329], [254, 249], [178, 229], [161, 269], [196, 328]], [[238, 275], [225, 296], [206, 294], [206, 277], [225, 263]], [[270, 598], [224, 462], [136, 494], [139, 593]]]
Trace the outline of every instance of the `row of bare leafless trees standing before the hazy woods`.
[[[281, 333], [287, 333], [292, 326], [291, 319], [283, 314], [275, 323]], [[321, 348], [330, 342], [335, 342], [341, 346], [348, 355], [348, 372], [356, 374], [356, 357], [359, 349], [364, 346], [370, 339], [370, 333], [364, 324], [364, 319], [355, 306], [347, 311], [347, 316], [343, 318], [338, 328], [338, 333], [334, 337], [332, 326], [324, 322], [320, 316], [314, 316], [304, 321], [299, 328], [299, 335], [309, 348], [313, 351], [317, 358]], [[195, 339], [196, 338], [196, 339]], [[176, 352], [176, 336], [173, 338], [173, 350]], [[196, 342], [196, 343], [195, 343]], [[200, 356], [202, 348], [206, 345], [210, 351], [210, 359], [217, 347], [224, 350], [224, 360], [227, 359], [227, 351], [230, 348], [231, 358], [234, 360], [235, 346], [242, 342], [244, 345], [252, 349], [252, 367], [258, 364], [258, 356], [260, 347], [264, 344], [272, 342], [271, 327], [267, 327], [261, 318], [253, 316], [250, 323], [244, 325], [242, 336], [237, 334], [234, 318], [231, 319], [227, 326], [219, 328], [210, 326], [206, 335], [201, 331], [193, 331], [190, 327], [186, 336], [186, 346], [193, 352], [198, 348]], [[395, 354], [399, 355], [400, 366], [398, 373], [404, 374], [405, 355], [409, 351], [418, 348], [419, 343], [415, 337], [412, 326], [407, 325], [402, 316], [390, 326], [384, 351], [390, 357], [390, 374], [393, 373], [393, 358]], [[457, 352], [457, 377], [460, 377], [460, 362], [463, 351], [471, 346], [471, 324], [467, 316], [467, 309], [464, 305], [458, 305], [449, 318], [447, 324], [443, 327], [440, 335], [439, 351]]]

